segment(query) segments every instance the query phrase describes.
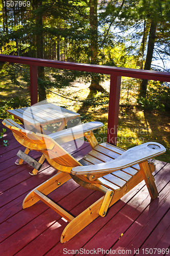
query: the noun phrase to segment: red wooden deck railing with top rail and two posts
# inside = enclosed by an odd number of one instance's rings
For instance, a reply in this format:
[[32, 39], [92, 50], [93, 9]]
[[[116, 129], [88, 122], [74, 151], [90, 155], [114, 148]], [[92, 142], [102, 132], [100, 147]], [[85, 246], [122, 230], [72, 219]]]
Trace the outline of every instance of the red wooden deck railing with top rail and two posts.
[[107, 141], [114, 145], [116, 145], [116, 138], [117, 138], [121, 77], [126, 76], [126, 77], [133, 77], [133, 78], [170, 82], [170, 73], [168, 72], [117, 68], [117, 67], [109, 67], [109, 66], [90, 65], [90, 64], [84, 64], [84, 63], [19, 57], [19, 56], [3, 55], [3, 54], [0, 54], [0, 61], [30, 65], [30, 89], [31, 89], [32, 105], [37, 103], [38, 101], [38, 86], [37, 86], [37, 67], [38, 66], [52, 67], [57, 69], [79, 70], [79, 71], [110, 75], [110, 96], [109, 96]]

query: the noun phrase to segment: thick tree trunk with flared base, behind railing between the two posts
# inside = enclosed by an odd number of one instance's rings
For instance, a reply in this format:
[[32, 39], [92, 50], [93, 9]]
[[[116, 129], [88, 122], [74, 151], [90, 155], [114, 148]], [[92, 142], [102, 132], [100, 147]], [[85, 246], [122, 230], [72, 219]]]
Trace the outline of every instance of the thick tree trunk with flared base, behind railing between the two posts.
[[[90, 56], [91, 63], [98, 64], [98, 0], [89, 0], [90, 6]], [[90, 91], [104, 92], [102, 86], [100, 86], [100, 75], [91, 76]]]

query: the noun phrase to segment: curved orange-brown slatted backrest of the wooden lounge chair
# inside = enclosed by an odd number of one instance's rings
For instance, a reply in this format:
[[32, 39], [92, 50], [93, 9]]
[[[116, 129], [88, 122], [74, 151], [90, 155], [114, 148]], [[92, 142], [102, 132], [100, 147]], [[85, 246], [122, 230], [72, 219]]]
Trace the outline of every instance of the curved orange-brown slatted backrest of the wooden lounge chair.
[[56, 169], [70, 173], [72, 167], [81, 165], [51, 137], [27, 131], [11, 119], [5, 119], [2, 123], [12, 131], [15, 139], [21, 145], [30, 150], [42, 152], [47, 161]]

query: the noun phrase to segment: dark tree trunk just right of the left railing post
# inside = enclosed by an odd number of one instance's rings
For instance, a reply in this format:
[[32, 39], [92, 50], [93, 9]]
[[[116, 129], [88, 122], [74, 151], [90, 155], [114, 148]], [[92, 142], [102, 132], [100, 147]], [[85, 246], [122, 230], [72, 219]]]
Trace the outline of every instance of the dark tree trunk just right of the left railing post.
[[[37, 1], [36, 8], [41, 7], [42, 2]], [[36, 46], [37, 46], [37, 58], [43, 59], [43, 33], [42, 33], [43, 23], [42, 23], [42, 15], [38, 15], [36, 18]], [[46, 99], [46, 91], [44, 86], [44, 67], [38, 66], [38, 77], [39, 77], [39, 83], [38, 83], [38, 102]]]

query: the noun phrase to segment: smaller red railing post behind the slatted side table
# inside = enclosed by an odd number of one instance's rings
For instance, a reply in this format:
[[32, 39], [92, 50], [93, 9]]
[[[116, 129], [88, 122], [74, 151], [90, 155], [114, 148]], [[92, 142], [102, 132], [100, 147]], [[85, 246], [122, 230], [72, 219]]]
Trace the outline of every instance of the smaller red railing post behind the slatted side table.
[[38, 102], [38, 78], [37, 78], [37, 66], [30, 65], [30, 93], [31, 93], [31, 105]]

